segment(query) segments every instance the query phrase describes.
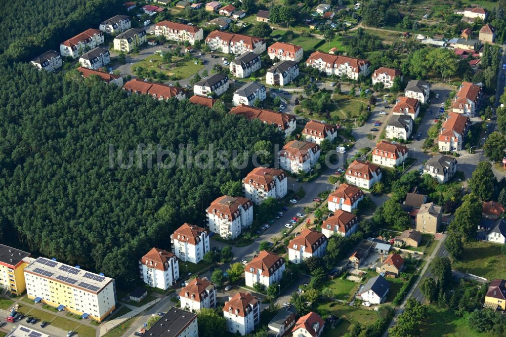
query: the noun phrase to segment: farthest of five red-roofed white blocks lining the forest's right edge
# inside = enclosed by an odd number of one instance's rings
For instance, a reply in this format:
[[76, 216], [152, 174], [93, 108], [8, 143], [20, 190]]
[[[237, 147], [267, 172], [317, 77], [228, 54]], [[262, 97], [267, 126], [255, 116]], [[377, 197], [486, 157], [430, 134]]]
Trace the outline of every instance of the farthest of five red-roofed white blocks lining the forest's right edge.
[[291, 173], [308, 173], [320, 157], [320, 145], [290, 141], [278, 152], [279, 166]]

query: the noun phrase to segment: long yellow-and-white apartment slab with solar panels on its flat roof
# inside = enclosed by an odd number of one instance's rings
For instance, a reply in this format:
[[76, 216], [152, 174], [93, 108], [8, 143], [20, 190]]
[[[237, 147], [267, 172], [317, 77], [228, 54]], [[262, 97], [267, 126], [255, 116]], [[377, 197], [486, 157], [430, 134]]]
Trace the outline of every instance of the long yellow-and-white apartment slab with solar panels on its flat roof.
[[102, 321], [117, 303], [114, 279], [76, 267], [37, 258], [24, 269], [26, 294], [35, 303]]

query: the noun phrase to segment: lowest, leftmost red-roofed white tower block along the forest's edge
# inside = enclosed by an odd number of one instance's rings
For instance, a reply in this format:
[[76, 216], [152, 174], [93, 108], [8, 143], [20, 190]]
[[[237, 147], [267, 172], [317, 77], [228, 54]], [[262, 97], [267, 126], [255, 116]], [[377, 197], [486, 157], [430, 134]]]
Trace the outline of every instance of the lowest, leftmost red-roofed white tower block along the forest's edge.
[[153, 288], [166, 290], [179, 279], [179, 263], [175, 254], [163, 249], [152, 248], [139, 260], [139, 269], [144, 283]]

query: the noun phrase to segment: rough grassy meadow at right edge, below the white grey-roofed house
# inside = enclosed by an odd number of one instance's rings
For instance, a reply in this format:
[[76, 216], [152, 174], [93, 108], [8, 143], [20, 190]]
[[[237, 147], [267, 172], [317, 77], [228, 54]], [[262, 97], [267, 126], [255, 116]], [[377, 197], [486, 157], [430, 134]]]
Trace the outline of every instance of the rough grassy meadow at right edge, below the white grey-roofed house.
[[486, 241], [466, 242], [462, 261], [455, 262], [453, 268], [489, 281], [506, 278], [506, 257], [501, 253], [501, 246]]

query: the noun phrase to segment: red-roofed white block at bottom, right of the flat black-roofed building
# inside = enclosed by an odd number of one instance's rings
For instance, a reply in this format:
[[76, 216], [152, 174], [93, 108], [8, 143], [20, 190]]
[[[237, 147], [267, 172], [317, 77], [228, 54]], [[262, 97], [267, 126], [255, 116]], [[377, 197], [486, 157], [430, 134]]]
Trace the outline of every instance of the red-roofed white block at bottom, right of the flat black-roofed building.
[[223, 316], [227, 320], [228, 331], [248, 334], [260, 323], [260, 300], [250, 292], [238, 292], [225, 302]]

